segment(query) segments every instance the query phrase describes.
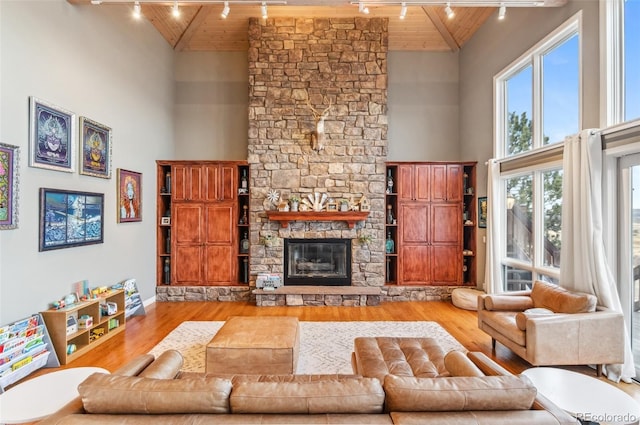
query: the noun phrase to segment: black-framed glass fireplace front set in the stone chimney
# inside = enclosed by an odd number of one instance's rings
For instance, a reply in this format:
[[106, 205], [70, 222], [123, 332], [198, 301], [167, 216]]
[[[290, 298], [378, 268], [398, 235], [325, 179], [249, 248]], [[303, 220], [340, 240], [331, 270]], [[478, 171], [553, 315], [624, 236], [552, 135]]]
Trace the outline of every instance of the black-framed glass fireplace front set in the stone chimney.
[[285, 285], [351, 285], [351, 239], [285, 239]]

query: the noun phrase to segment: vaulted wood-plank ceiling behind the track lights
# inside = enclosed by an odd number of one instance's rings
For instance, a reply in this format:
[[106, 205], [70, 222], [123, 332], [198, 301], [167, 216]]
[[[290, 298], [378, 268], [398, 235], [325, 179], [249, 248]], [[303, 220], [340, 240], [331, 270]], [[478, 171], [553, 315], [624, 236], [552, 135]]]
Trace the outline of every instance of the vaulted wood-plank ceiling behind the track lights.
[[[109, 7], [114, 4], [128, 4], [133, 9], [133, 0], [103, 0], [102, 4], [91, 5], [90, 0], [67, 0], [77, 5], [90, 7]], [[94, 0], [95, 1], [95, 0]], [[405, 19], [399, 19], [400, 2], [394, 5], [378, 4], [379, 0], [367, 1], [370, 10], [368, 15], [361, 15], [358, 6], [349, 0], [287, 0], [284, 5], [269, 4], [269, 18], [305, 17], [305, 18], [344, 18], [353, 16], [388, 17], [389, 18], [389, 50], [412, 50], [445, 52], [457, 51], [469, 41], [473, 34], [489, 19], [495, 17], [496, 7], [487, 4], [498, 4], [495, 1], [466, 1], [464, 7], [456, 7], [455, 0], [451, 7], [455, 11], [453, 19], [447, 19], [444, 3], [412, 5], [406, 3]], [[474, 1], [485, 7], [470, 7]], [[557, 7], [566, 4], [567, 0], [541, 0], [539, 6]], [[171, 14], [172, 1], [164, 3], [156, 0], [140, 0], [142, 15], [149, 20], [160, 34], [176, 51], [245, 51], [248, 48], [248, 20], [260, 16], [260, 3], [251, 4], [230, 2], [230, 13], [226, 19], [221, 17], [222, 2], [207, 0], [178, 1], [180, 16]], [[249, 2], [247, 2], [249, 3]], [[284, 3], [284, 2], [282, 2]], [[510, 0], [517, 7], [524, 7], [524, 0]]]

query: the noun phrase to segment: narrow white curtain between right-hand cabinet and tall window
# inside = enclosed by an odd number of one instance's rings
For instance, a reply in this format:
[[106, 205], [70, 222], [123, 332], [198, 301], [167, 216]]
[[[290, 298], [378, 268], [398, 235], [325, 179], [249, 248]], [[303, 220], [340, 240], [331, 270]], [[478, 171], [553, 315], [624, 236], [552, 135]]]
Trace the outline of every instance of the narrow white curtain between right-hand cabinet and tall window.
[[500, 265], [500, 164], [490, 159], [487, 170], [487, 253], [484, 271], [484, 291], [503, 292]]

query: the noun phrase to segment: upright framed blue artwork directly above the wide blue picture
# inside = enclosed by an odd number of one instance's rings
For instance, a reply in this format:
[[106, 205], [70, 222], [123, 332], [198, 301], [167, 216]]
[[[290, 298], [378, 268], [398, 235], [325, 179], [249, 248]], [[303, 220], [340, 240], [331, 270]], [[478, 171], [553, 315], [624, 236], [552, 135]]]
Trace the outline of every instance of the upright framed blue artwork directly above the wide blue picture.
[[33, 96], [29, 112], [29, 166], [72, 173], [76, 115]]

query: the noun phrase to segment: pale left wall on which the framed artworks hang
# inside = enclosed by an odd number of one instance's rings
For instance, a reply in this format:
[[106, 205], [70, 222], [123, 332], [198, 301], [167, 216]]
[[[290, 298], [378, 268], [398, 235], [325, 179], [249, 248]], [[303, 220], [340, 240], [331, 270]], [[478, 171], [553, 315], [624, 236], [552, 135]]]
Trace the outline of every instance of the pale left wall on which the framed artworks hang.
[[[19, 227], [0, 231], [0, 323], [71, 285], [135, 277], [155, 295], [155, 160], [173, 155], [173, 52], [130, 6], [0, 1], [0, 141], [20, 147]], [[113, 129], [112, 178], [28, 166], [29, 96]], [[77, 167], [76, 167], [77, 168]], [[116, 169], [143, 174], [140, 223], [116, 222]], [[104, 243], [38, 252], [41, 187], [104, 193]]]

